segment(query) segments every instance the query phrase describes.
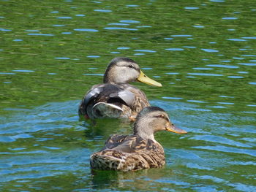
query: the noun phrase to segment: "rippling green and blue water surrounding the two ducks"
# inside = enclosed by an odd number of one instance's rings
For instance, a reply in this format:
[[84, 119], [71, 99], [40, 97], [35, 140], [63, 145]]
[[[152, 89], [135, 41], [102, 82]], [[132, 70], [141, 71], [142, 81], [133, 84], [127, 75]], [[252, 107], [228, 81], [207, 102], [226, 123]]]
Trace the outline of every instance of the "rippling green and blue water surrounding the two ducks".
[[[256, 191], [254, 1], [0, 1], [1, 191]], [[26, 7], [26, 9], [25, 9]], [[78, 104], [126, 56], [162, 83], [146, 92], [176, 126], [167, 164], [91, 172], [125, 120], [78, 120]]]

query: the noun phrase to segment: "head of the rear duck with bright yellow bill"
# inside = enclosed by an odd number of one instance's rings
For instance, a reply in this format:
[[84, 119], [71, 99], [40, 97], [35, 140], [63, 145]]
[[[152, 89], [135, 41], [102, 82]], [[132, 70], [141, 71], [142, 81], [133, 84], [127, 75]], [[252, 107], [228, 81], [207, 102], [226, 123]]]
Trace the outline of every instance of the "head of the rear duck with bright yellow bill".
[[110, 61], [104, 74], [104, 83], [121, 84], [132, 81], [144, 82], [148, 85], [162, 87], [162, 84], [151, 80], [141, 70], [140, 66], [130, 58], [114, 58]]

